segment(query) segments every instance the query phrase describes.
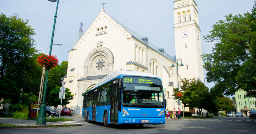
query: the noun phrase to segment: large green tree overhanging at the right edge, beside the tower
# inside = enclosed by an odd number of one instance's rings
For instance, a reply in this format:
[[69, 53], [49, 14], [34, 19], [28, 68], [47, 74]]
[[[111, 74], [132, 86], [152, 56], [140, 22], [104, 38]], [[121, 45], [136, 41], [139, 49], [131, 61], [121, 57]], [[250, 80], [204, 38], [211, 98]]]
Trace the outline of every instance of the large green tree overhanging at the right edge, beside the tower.
[[215, 82], [221, 94], [232, 95], [239, 88], [256, 96], [256, 1], [252, 13], [229, 14], [219, 20], [204, 40], [213, 42], [213, 53], [204, 54], [207, 81]]

